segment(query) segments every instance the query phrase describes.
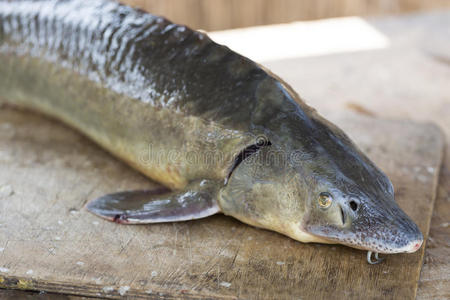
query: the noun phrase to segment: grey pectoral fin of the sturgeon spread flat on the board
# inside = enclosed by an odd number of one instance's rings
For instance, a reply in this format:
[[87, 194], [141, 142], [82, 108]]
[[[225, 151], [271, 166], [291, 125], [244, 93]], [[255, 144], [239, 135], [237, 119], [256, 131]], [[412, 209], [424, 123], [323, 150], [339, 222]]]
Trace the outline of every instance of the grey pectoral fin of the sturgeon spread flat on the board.
[[120, 224], [178, 222], [205, 218], [220, 212], [215, 190], [194, 184], [181, 192], [165, 188], [124, 191], [90, 201], [86, 208]]

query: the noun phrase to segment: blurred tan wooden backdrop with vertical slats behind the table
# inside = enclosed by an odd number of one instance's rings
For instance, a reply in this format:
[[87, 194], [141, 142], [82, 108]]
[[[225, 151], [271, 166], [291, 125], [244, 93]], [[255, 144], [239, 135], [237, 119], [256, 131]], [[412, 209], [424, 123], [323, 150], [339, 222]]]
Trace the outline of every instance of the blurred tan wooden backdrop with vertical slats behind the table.
[[447, 0], [122, 0], [195, 29], [288, 23], [351, 15], [398, 14], [450, 7]]

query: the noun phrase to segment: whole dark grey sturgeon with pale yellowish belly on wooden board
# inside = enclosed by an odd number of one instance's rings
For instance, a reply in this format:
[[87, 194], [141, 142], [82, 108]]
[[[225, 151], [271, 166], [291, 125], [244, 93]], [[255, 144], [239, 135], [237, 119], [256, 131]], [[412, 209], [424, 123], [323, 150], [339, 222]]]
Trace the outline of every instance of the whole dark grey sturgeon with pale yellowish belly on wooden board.
[[281, 78], [206, 33], [106, 0], [0, 0], [0, 95], [161, 184], [90, 201], [119, 224], [222, 213], [304, 243], [412, 253], [389, 178]]

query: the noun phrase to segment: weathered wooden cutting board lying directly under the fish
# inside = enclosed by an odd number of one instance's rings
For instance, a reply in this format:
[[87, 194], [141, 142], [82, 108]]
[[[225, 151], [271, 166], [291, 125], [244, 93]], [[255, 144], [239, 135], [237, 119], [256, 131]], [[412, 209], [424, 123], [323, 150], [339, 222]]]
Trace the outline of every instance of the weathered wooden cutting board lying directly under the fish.
[[[391, 177], [427, 236], [443, 141], [430, 124], [333, 120]], [[409, 298], [424, 247], [381, 265], [342, 246], [302, 244], [225, 216], [121, 226], [83, 209], [154, 184], [73, 130], [0, 109], [0, 285], [120, 297]]]

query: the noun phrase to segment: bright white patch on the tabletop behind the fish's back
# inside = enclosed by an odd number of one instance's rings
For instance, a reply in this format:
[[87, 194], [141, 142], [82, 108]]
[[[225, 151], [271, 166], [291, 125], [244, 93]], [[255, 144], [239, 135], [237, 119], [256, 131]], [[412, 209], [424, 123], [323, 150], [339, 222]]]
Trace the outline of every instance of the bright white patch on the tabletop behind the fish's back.
[[385, 35], [359, 17], [215, 31], [208, 35], [257, 62], [389, 46]]

